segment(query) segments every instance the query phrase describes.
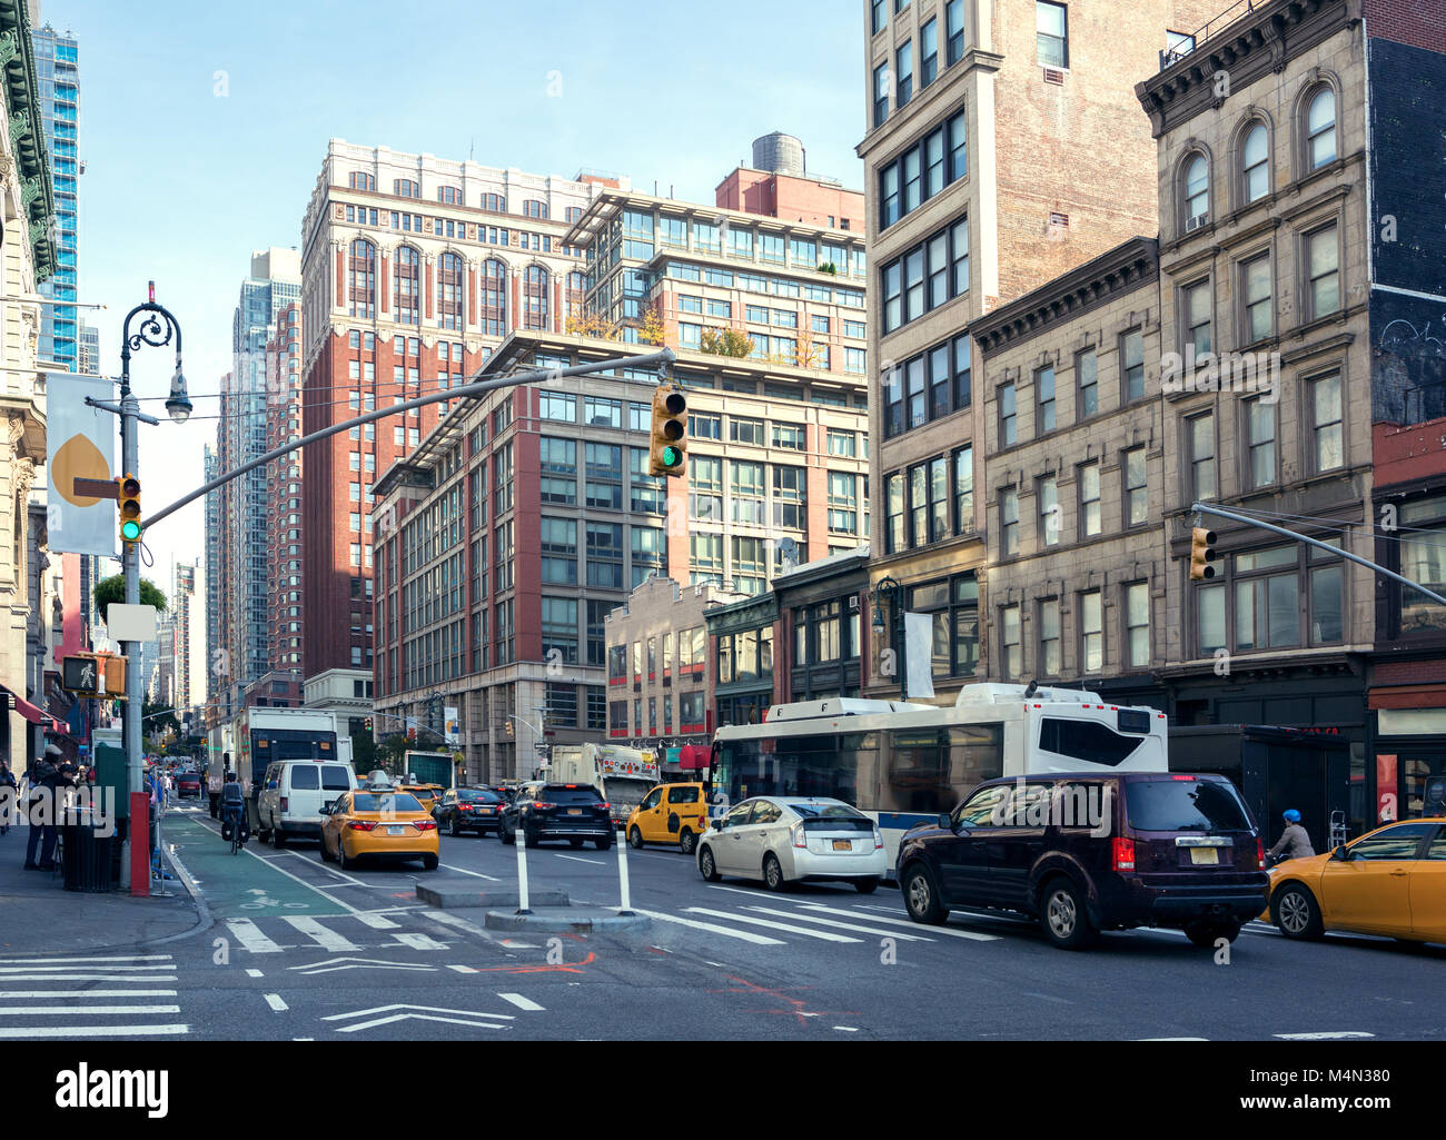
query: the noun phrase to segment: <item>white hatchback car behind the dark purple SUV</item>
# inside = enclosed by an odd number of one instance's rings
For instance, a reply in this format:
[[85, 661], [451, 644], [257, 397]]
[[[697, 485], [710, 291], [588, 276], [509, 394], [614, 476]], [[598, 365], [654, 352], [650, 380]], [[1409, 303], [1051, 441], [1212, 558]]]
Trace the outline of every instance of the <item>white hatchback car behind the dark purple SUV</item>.
[[872, 894], [888, 871], [878, 826], [843, 800], [756, 796], [732, 807], [698, 841], [698, 872], [762, 880], [771, 891], [790, 882], [852, 882]]

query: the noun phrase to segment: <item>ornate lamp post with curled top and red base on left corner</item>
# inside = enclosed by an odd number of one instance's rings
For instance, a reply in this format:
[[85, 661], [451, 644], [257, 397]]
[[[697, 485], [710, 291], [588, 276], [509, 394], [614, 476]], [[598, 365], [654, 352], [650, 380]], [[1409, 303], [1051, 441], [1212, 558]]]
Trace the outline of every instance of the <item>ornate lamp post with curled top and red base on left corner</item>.
[[[191, 417], [191, 401], [185, 391], [185, 376], [181, 373], [181, 323], [171, 314], [169, 310], [156, 304], [156, 284], [152, 281], [149, 284], [149, 299], [145, 304], [136, 305], [130, 312], [126, 314], [126, 320], [120, 327], [120, 404], [108, 404], [98, 399], [87, 399], [87, 404], [93, 407], [103, 408], [114, 415], [120, 417], [120, 456], [121, 456], [121, 470], [126, 475], [137, 475], [137, 467], [140, 466], [139, 441], [136, 438], [137, 424], [146, 422], [152, 427], [161, 421], [145, 415], [140, 411], [140, 402], [130, 392], [130, 354], [132, 352], [139, 352], [142, 346], [149, 344], [153, 349], [162, 349], [175, 340], [176, 346], [176, 370], [171, 376], [171, 396], [166, 399], [166, 412], [171, 415], [172, 422], [184, 424]], [[134, 331], [132, 331], [132, 323], [140, 318]], [[140, 605], [140, 535], [143, 531], [137, 524], [126, 524], [127, 527], [134, 525], [134, 535], [126, 532], [126, 543], [121, 550], [121, 569], [126, 576], [126, 605], [136, 606]], [[142, 692], [140, 692], [140, 644], [134, 641], [121, 642], [120, 651], [124, 657], [132, 658], [134, 665], [126, 670], [126, 710], [124, 710], [124, 732], [121, 741], [126, 748], [126, 788], [130, 796], [130, 828], [126, 836], [126, 846], [121, 855], [121, 882], [130, 880], [132, 894], [149, 894], [150, 880], [145, 868], [150, 862], [150, 852], [146, 851], [145, 858], [140, 859], [139, 867], [142, 868], [140, 881], [136, 881], [136, 869], [132, 867], [132, 861], [136, 858], [134, 842], [137, 838], [137, 825], [142, 820], [149, 819], [149, 807], [145, 791], [145, 770], [142, 767], [142, 751], [140, 751], [140, 719], [142, 719]], [[140, 814], [137, 816], [137, 804], [140, 806]], [[149, 848], [149, 842], [146, 843]]]

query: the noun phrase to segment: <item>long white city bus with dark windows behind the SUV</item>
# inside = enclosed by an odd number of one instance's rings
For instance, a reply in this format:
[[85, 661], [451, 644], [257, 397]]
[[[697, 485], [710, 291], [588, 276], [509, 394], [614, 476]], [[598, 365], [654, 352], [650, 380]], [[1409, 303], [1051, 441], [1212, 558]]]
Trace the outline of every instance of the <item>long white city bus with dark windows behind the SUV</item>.
[[904, 832], [951, 812], [980, 781], [1035, 773], [1168, 771], [1165, 715], [1098, 693], [967, 684], [951, 706], [814, 700], [713, 738], [710, 783], [726, 803], [829, 796], [870, 816], [889, 867]]

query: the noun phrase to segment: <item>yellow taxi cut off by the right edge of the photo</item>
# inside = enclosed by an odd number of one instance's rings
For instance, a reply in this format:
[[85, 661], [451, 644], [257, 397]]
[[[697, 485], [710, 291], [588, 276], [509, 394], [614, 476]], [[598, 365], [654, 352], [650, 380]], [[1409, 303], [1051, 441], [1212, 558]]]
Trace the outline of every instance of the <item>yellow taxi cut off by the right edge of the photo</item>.
[[1270, 919], [1285, 937], [1326, 930], [1446, 942], [1446, 817], [1388, 823], [1271, 872]]

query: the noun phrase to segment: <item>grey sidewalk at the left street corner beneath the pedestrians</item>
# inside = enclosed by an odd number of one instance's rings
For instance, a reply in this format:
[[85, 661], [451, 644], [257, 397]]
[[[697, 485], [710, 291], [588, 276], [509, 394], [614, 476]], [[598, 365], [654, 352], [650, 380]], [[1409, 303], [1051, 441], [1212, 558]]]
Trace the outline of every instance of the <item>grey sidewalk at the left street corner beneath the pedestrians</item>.
[[[29, 838], [25, 826], [0, 836], [0, 956], [121, 949], [197, 926], [198, 910], [179, 878], [165, 884], [169, 898], [68, 891], [62, 875], [25, 869]], [[159, 885], [152, 881], [152, 890]]]

